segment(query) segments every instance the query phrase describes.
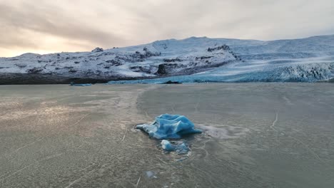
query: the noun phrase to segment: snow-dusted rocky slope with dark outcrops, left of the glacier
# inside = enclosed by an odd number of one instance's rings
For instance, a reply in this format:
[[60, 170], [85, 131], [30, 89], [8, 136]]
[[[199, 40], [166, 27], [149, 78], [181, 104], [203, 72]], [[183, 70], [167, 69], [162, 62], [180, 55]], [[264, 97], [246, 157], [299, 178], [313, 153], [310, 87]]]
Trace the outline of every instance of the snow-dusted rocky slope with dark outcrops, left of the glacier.
[[[193, 38], [196, 43], [196, 38]], [[228, 46], [183, 46], [157, 41], [141, 46], [103, 51], [26, 53], [0, 59], [0, 73], [51, 74], [78, 78], [142, 78], [197, 73], [239, 61]]]

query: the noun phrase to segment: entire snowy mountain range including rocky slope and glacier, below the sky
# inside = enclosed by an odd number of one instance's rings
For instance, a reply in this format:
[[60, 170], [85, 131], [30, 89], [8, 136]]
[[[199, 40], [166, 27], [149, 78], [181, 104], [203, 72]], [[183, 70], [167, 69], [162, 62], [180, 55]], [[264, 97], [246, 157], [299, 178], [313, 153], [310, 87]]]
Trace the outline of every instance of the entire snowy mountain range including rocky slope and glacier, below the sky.
[[158, 78], [130, 83], [312, 82], [334, 77], [334, 35], [278, 41], [191, 37], [105, 51], [26, 53], [0, 58], [1, 73], [102, 80]]

